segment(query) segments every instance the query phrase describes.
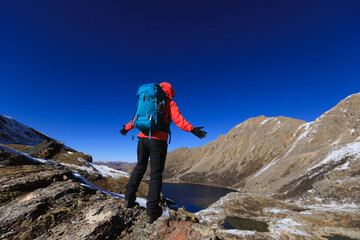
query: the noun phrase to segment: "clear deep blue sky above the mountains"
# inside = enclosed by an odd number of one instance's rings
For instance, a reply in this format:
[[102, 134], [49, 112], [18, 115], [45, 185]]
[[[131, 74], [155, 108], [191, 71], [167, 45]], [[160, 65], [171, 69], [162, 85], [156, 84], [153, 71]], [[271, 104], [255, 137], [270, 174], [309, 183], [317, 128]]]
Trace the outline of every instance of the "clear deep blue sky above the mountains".
[[0, 1], [0, 111], [95, 161], [136, 161], [137, 88], [168, 81], [208, 137], [259, 115], [313, 121], [360, 91], [360, 1]]

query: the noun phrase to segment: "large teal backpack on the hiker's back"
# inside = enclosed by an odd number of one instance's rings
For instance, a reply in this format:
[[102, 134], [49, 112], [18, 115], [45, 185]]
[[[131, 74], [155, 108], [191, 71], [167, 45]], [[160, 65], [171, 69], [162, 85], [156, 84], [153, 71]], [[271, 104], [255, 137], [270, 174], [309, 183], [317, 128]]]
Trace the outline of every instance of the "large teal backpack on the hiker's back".
[[[165, 100], [168, 98], [164, 90], [156, 83], [144, 84], [137, 92], [138, 103], [131, 125], [141, 132], [156, 132], [163, 126]], [[134, 139], [134, 134], [133, 134]]]

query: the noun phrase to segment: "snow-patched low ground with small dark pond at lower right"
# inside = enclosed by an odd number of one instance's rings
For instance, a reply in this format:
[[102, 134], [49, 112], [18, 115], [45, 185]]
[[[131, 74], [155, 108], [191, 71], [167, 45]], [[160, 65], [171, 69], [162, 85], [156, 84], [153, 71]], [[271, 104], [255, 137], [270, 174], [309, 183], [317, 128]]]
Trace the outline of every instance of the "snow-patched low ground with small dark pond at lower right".
[[231, 239], [360, 239], [360, 208], [356, 204], [316, 200], [281, 201], [239, 192], [227, 194], [196, 214], [200, 222]]

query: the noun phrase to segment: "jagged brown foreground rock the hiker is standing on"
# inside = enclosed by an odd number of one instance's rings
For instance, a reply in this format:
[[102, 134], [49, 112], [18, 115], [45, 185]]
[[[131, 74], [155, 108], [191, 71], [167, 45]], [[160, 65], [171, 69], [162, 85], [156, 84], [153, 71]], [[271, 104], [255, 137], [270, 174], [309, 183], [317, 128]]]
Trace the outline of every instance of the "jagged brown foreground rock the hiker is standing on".
[[86, 183], [56, 161], [0, 146], [0, 239], [218, 239], [186, 211], [165, 209], [147, 224], [144, 208]]

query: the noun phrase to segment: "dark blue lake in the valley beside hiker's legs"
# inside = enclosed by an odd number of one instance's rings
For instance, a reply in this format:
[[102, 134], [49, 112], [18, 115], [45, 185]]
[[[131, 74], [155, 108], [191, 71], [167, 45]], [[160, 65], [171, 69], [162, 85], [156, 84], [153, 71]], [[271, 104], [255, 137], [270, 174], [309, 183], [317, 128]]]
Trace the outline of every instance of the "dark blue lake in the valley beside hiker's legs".
[[170, 198], [177, 205], [182, 205], [189, 212], [198, 212], [219, 200], [229, 192], [228, 188], [210, 187], [188, 183], [163, 183], [163, 196]]

